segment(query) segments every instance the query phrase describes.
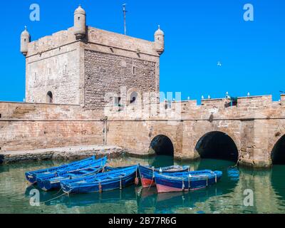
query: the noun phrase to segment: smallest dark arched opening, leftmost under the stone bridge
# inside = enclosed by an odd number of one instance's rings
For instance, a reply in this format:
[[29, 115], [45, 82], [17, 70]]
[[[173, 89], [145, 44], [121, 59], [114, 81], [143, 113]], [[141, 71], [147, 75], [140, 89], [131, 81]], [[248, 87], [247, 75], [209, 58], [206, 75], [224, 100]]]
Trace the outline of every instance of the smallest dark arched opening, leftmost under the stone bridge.
[[150, 143], [150, 150], [155, 152], [155, 155], [174, 156], [174, 146], [165, 135], [157, 135]]

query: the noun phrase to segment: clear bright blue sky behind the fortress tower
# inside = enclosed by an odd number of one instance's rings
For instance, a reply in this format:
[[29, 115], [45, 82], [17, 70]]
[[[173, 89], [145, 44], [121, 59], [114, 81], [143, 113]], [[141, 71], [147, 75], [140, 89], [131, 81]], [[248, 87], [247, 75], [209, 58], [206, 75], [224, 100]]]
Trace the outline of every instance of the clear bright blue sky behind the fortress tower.
[[[33, 3], [41, 7], [41, 21], [29, 20]], [[161, 91], [182, 92], [182, 99], [222, 98], [228, 91], [272, 94], [279, 100], [279, 90], [285, 90], [283, 0], [11, 0], [1, 2], [0, 100], [24, 98], [25, 61], [19, 48], [25, 25], [32, 40], [50, 35], [73, 26], [73, 11], [82, 4], [88, 25], [123, 33], [123, 3], [129, 36], [152, 41], [158, 24], [165, 31]], [[247, 3], [254, 6], [254, 21], [243, 19]]]

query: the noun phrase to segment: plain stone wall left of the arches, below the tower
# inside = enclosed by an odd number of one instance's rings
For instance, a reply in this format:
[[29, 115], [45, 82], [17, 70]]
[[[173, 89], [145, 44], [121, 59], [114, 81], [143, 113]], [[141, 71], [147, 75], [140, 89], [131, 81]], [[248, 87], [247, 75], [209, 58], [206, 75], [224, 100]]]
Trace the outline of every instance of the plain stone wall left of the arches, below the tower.
[[103, 145], [101, 113], [79, 105], [0, 103], [1, 151]]

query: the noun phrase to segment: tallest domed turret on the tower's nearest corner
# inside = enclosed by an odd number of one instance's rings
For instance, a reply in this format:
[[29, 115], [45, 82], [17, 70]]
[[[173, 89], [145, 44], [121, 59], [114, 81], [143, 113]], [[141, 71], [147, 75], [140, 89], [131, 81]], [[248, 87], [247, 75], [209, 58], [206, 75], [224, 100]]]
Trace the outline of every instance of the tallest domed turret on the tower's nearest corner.
[[81, 6], [74, 11], [74, 35], [78, 39], [86, 36], [86, 11]]

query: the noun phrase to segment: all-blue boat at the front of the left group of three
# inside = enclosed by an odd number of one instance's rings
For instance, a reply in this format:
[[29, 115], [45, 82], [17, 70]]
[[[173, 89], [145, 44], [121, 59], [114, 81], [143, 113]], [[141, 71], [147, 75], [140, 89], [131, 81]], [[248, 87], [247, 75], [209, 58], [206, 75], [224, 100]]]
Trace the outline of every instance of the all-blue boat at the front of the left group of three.
[[76, 180], [65, 180], [61, 182], [61, 189], [68, 194], [121, 190], [123, 187], [133, 185], [137, 175], [138, 165], [135, 165]]

